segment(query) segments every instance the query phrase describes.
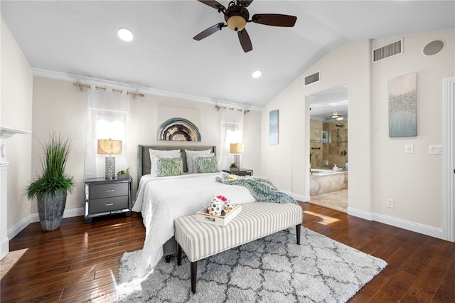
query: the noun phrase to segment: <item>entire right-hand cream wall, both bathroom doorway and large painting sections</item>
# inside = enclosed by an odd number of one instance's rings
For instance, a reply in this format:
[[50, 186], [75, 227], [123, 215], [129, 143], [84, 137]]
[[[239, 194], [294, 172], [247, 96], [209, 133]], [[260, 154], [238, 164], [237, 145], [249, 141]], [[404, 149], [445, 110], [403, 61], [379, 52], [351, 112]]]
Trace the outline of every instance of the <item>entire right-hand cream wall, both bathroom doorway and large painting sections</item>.
[[[262, 171], [291, 179], [291, 186], [280, 182], [277, 186], [297, 198], [309, 197], [309, 108], [305, 96], [347, 84], [348, 213], [403, 223], [405, 228], [439, 236], [442, 157], [429, 155], [428, 150], [429, 144], [442, 144], [442, 79], [455, 75], [454, 36], [454, 29], [405, 36], [402, 55], [375, 64], [370, 63], [371, 48], [397, 37], [356, 41], [328, 53], [264, 107]], [[446, 41], [444, 50], [432, 57], [422, 55], [425, 44], [437, 38]], [[305, 87], [304, 76], [316, 71], [321, 72], [321, 81]], [[418, 134], [389, 138], [387, 81], [411, 72], [417, 73]], [[274, 109], [280, 110], [280, 139], [284, 138], [280, 146], [268, 144], [268, 113]], [[405, 144], [414, 145], [414, 154], [405, 154]], [[387, 198], [395, 199], [395, 208], [386, 208]]]

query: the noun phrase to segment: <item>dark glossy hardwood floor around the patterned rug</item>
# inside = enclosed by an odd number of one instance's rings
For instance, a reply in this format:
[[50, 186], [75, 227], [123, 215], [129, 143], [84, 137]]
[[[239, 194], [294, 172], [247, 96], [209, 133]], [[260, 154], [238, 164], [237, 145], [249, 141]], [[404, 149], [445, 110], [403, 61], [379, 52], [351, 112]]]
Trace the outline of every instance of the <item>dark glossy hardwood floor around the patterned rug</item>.
[[[455, 302], [455, 243], [299, 203], [304, 226], [387, 261], [350, 302]], [[119, 259], [139, 250], [141, 216], [84, 224], [65, 218], [58, 230], [28, 225], [10, 250], [28, 248], [1, 280], [1, 302], [113, 302]], [[171, 261], [173, 262], [173, 261]]]

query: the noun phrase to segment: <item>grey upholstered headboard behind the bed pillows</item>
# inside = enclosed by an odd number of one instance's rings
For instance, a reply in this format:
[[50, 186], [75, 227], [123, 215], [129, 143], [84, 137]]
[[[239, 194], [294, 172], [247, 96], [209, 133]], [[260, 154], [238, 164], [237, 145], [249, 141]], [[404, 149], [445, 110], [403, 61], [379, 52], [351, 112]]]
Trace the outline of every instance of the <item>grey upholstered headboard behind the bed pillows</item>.
[[216, 147], [207, 146], [207, 145], [186, 145], [186, 146], [181, 146], [181, 145], [153, 145], [153, 146], [139, 145], [138, 156], [137, 156], [137, 179], [138, 180], [141, 179], [141, 176], [150, 174], [149, 149], [157, 149], [157, 150], [180, 149], [180, 156], [183, 159], [183, 172], [188, 171], [188, 167], [186, 166], [185, 149], [188, 149], [190, 151], [203, 151], [206, 149], [211, 149], [212, 152], [216, 154]]

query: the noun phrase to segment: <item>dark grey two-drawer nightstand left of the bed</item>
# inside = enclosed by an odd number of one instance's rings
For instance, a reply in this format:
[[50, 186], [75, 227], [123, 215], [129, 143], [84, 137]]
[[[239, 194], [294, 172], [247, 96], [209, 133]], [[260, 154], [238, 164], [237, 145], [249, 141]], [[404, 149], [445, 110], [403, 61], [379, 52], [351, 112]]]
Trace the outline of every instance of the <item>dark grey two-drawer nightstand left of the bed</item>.
[[85, 223], [92, 218], [125, 213], [131, 216], [132, 179], [92, 178], [85, 181]]

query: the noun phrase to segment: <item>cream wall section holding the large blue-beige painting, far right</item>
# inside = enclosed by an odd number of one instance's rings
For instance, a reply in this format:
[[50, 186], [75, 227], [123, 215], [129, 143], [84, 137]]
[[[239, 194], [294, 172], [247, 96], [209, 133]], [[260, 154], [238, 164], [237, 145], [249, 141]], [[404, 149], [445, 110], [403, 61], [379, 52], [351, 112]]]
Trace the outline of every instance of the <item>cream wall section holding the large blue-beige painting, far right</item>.
[[[422, 54], [434, 39], [446, 41], [441, 53]], [[390, 39], [378, 39], [378, 47]], [[430, 155], [430, 144], [442, 144], [442, 79], [455, 75], [454, 30], [405, 36], [402, 55], [373, 65], [373, 211], [384, 216], [442, 227], [442, 156]], [[417, 137], [388, 137], [387, 82], [417, 73]], [[414, 154], [405, 154], [405, 144]], [[386, 200], [395, 200], [387, 208]]]

